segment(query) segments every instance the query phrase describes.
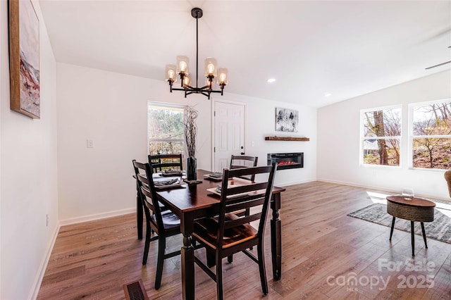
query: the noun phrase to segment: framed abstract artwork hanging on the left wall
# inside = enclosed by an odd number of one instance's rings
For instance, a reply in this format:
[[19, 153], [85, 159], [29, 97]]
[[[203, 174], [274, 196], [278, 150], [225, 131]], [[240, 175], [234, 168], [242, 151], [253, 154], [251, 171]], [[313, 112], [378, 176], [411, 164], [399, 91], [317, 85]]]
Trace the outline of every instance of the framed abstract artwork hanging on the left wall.
[[30, 0], [9, 0], [8, 7], [11, 109], [39, 119], [39, 19]]

